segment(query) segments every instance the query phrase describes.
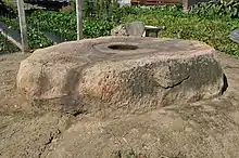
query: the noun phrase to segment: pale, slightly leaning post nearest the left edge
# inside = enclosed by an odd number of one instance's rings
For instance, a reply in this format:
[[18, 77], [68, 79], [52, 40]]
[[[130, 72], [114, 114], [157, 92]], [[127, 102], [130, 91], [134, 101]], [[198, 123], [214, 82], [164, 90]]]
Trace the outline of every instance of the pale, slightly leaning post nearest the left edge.
[[25, 53], [26, 50], [28, 49], [28, 41], [27, 41], [27, 29], [26, 29], [24, 1], [23, 0], [16, 0], [16, 1], [17, 1], [17, 11], [18, 11], [18, 18], [20, 18], [22, 51], [23, 51], [23, 53]]

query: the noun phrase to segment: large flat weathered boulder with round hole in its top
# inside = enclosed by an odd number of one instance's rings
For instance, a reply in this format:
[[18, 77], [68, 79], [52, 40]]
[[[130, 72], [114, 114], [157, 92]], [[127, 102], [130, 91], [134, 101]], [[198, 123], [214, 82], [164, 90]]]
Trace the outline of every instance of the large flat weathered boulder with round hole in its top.
[[35, 105], [65, 113], [122, 115], [222, 93], [214, 50], [199, 41], [103, 37], [35, 51], [17, 88]]

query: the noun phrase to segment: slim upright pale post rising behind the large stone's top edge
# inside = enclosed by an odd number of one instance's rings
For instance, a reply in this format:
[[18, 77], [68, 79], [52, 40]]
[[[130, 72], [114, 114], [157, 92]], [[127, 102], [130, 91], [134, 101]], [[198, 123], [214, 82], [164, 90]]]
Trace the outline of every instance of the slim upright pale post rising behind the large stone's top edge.
[[76, 0], [77, 40], [83, 39], [83, 0]]

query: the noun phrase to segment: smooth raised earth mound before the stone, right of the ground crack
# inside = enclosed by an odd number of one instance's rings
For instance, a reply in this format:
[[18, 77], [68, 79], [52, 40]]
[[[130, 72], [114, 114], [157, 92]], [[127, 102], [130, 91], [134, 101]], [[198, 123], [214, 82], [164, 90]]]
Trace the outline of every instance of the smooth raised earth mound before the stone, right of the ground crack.
[[172, 106], [114, 120], [80, 121], [52, 144], [54, 149], [47, 158], [237, 158], [239, 113], [225, 114], [217, 110], [218, 105], [207, 104], [180, 109]]

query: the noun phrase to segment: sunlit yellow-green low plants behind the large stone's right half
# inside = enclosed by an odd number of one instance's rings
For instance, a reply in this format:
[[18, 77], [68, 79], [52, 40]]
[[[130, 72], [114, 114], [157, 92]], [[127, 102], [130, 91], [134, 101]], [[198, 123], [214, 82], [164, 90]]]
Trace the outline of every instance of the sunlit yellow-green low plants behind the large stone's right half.
[[239, 44], [229, 39], [230, 31], [239, 28], [238, 18], [186, 14], [178, 9], [155, 9], [122, 18], [122, 23], [133, 21], [166, 26], [166, 30], [162, 30], [160, 37], [200, 40], [218, 51], [239, 55]]

